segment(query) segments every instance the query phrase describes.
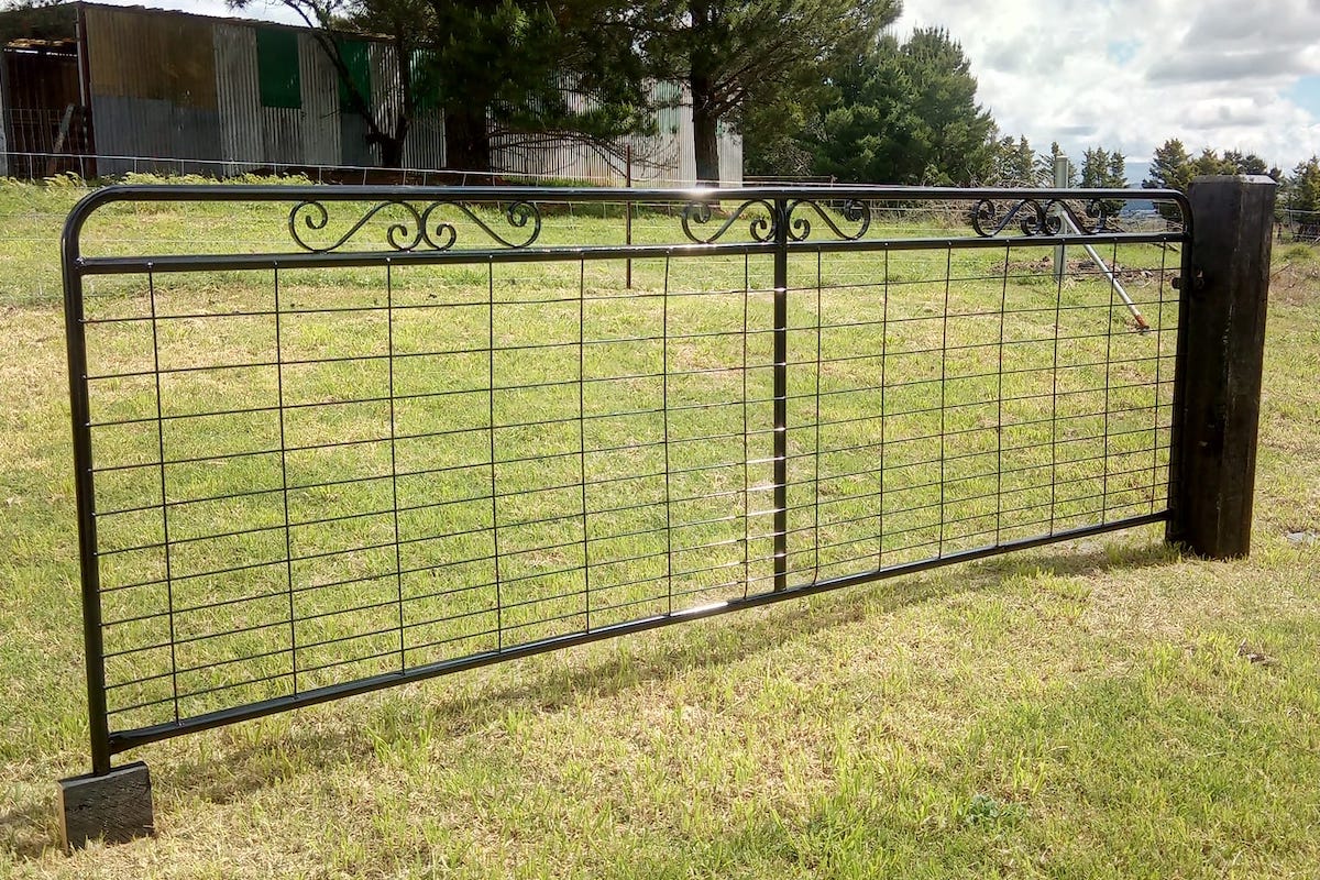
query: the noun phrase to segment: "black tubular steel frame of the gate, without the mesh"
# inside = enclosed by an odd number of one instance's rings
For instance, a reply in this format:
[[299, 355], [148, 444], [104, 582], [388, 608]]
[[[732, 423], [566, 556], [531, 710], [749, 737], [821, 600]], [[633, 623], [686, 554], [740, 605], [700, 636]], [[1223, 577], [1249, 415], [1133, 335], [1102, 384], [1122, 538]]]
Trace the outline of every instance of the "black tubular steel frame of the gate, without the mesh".
[[[296, 202], [314, 198], [318, 202], [425, 202], [444, 199], [466, 203], [566, 203], [566, 202], [626, 202], [630, 204], [701, 204], [711, 202], [758, 202], [772, 208], [774, 235], [768, 240], [741, 243], [671, 244], [671, 245], [628, 245], [628, 247], [572, 247], [545, 248], [528, 247], [512, 249], [463, 249], [463, 251], [404, 251], [404, 252], [346, 252], [346, 253], [306, 253], [277, 252], [260, 255], [190, 255], [190, 256], [129, 256], [129, 257], [86, 257], [81, 249], [81, 235], [88, 218], [99, 208], [117, 202], [252, 202], [277, 201]], [[201, 731], [238, 720], [259, 718], [288, 708], [321, 703], [338, 697], [378, 690], [395, 683], [420, 681], [463, 669], [488, 665], [502, 660], [525, 657], [554, 650], [569, 645], [585, 644], [619, 635], [643, 632], [682, 620], [727, 613], [742, 608], [756, 607], [772, 602], [813, 595], [845, 586], [869, 583], [884, 578], [912, 574], [928, 569], [986, 558], [1014, 550], [1036, 548], [1052, 542], [1068, 541], [1085, 536], [1101, 534], [1142, 524], [1166, 521], [1167, 509], [1148, 515], [1130, 516], [1084, 528], [1059, 530], [1049, 534], [1002, 541], [974, 549], [958, 550], [937, 557], [891, 566], [876, 566], [858, 574], [813, 581], [812, 583], [791, 586], [788, 583], [788, 296], [789, 296], [789, 256], [793, 253], [862, 252], [862, 251], [931, 251], [962, 248], [1003, 248], [1002, 237], [919, 237], [919, 239], [867, 239], [867, 240], [801, 240], [791, 228], [793, 208], [803, 202], [825, 201], [958, 201], [982, 199], [1118, 199], [1142, 198], [1162, 199], [1179, 204], [1184, 216], [1180, 232], [1163, 234], [1121, 234], [1121, 232], [1077, 232], [1077, 234], [1036, 234], [1030, 237], [1031, 245], [1053, 244], [1183, 244], [1180, 270], [1181, 277], [1191, 278], [1192, 214], [1187, 199], [1175, 191], [1166, 190], [994, 190], [994, 189], [948, 189], [948, 187], [746, 187], [731, 190], [693, 190], [676, 193], [673, 190], [639, 189], [535, 189], [535, 187], [356, 187], [356, 186], [116, 186], [94, 191], [79, 202], [67, 218], [61, 240], [63, 264], [65, 323], [67, 338], [70, 413], [73, 427], [75, 495], [78, 521], [78, 548], [82, 567], [83, 602], [83, 643], [86, 653], [87, 706], [91, 739], [92, 772], [104, 774], [111, 770], [111, 757], [137, 745]], [[86, 347], [86, 318], [83, 310], [83, 277], [120, 273], [169, 273], [216, 269], [290, 269], [298, 267], [363, 267], [363, 265], [442, 265], [442, 264], [487, 264], [487, 263], [540, 263], [540, 261], [581, 261], [618, 260], [644, 257], [709, 257], [727, 255], [771, 255], [774, 260], [774, 586], [768, 592], [758, 592], [698, 607], [688, 611], [655, 615], [589, 629], [565, 636], [556, 636], [524, 643], [499, 650], [462, 657], [458, 660], [428, 664], [399, 673], [368, 677], [342, 685], [318, 687], [288, 697], [236, 706], [193, 718], [180, 719], [169, 724], [156, 724], [133, 731], [110, 730], [107, 714], [107, 682], [104, 666], [103, 619], [100, 604], [100, 577], [98, 566], [96, 509], [95, 509], [95, 468], [92, 462], [92, 437], [88, 400], [88, 371]], [[1185, 314], [1185, 293], [1179, 301]], [[1173, 383], [1173, 408], [1177, 412], [1183, 401], [1183, 379], [1187, 364], [1183, 355], [1184, 331], [1179, 326], [1177, 348], [1175, 354], [1176, 371]], [[1173, 420], [1176, 433], [1179, 420]], [[1170, 480], [1180, 472], [1176, 460], [1179, 437], [1172, 438], [1170, 449]]]

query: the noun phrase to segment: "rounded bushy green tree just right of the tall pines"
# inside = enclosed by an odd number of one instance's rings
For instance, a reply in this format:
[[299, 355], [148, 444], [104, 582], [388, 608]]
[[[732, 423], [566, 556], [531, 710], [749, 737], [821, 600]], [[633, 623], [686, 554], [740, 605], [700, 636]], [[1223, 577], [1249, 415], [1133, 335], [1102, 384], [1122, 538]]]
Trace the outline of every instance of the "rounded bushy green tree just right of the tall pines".
[[838, 98], [807, 135], [813, 170], [843, 181], [954, 185], [979, 181], [994, 154], [994, 123], [975, 103], [962, 47], [941, 29], [906, 44], [883, 37], [842, 66]]

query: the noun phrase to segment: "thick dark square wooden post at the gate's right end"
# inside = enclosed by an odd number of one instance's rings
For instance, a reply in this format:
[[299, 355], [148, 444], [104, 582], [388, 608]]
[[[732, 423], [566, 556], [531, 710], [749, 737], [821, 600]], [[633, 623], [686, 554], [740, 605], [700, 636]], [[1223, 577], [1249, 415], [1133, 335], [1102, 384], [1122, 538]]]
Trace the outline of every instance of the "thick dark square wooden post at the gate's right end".
[[1168, 540], [1226, 559], [1251, 548], [1275, 183], [1199, 177], [1181, 278]]

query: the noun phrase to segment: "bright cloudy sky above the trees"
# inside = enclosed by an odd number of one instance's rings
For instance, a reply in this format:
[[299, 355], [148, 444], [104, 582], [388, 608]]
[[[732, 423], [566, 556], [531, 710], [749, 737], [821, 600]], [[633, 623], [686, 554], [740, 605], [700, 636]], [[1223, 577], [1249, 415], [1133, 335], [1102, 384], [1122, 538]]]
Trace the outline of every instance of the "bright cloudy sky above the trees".
[[[107, 0], [103, 0], [107, 1]], [[125, 5], [135, 0], [108, 0]], [[224, 0], [136, 0], [226, 16]], [[1257, 153], [1284, 172], [1320, 153], [1320, 0], [903, 0], [895, 25], [962, 44], [978, 100], [1038, 152], [1059, 141], [1127, 157], [1140, 182], [1177, 137]], [[298, 24], [279, 0], [242, 13]]]

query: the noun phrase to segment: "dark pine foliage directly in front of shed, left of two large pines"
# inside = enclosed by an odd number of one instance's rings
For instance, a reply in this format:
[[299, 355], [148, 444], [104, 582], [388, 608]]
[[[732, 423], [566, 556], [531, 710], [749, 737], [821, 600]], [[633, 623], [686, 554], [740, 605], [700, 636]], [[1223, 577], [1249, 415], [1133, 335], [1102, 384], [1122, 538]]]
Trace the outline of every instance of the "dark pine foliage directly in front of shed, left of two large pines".
[[[462, 170], [490, 170], [492, 142], [578, 139], [618, 150], [619, 136], [651, 131], [647, 70], [624, 0], [282, 3], [313, 29], [384, 165], [401, 165], [421, 106], [445, 108], [446, 165]], [[408, 59], [399, 65], [393, 119], [354, 82], [342, 40], [348, 33], [384, 34]], [[570, 107], [569, 88], [585, 99], [581, 107]]]

